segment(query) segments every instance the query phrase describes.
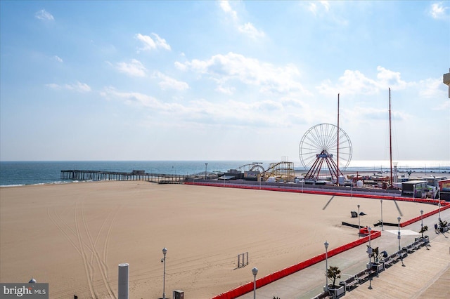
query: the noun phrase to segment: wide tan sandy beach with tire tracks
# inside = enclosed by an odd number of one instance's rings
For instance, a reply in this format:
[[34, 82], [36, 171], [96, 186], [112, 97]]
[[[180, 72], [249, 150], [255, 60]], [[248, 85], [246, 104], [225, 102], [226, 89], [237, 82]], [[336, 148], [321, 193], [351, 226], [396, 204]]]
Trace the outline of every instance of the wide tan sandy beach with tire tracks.
[[[48, 282], [50, 298], [117, 298], [129, 263], [130, 298], [211, 298], [354, 241], [380, 220], [380, 201], [149, 182], [78, 182], [0, 188], [0, 281]], [[397, 201], [403, 220], [436, 206]], [[397, 222], [394, 201], [383, 220]], [[376, 228], [375, 228], [376, 229]], [[432, 228], [431, 228], [432, 229]], [[249, 265], [237, 268], [239, 253]]]

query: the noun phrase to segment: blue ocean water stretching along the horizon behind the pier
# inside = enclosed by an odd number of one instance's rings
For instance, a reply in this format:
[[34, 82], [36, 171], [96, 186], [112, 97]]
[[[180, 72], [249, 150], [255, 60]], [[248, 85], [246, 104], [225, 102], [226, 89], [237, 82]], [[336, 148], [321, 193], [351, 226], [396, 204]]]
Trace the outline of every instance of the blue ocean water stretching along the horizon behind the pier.
[[[259, 162], [267, 169], [271, 162], [277, 161]], [[255, 161], [0, 161], [0, 186], [67, 183], [71, 181], [61, 180], [60, 173], [62, 170], [72, 169], [123, 172], [140, 170], [146, 173], [187, 175], [203, 173], [205, 168], [208, 172], [224, 172], [252, 163]], [[397, 167], [399, 171], [450, 173], [450, 161], [400, 161]], [[297, 171], [307, 171], [300, 162], [294, 163], [294, 168]], [[352, 161], [347, 170], [386, 172], [390, 170], [390, 163]]]

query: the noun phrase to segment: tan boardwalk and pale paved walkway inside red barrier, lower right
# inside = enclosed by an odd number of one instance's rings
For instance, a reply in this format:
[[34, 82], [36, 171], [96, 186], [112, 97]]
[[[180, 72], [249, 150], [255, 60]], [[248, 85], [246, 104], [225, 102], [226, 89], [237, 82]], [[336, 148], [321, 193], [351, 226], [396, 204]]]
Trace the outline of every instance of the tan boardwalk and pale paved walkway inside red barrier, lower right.
[[[450, 219], [450, 209], [441, 213], [443, 220]], [[352, 291], [347, 291], [343, 298], [450, 298], [450, 234], [435, 234], [433, 225], [437, 216], [423, 219], [423, 224], [430, 227], [430, 250], [425, 247], [409, 254], [404, 259], [405, 267], [396, 263], [378, 277], [373, 277]], [[420, 230], [420, 222], [415, 222], [401, 229], [401, 246], [411, 244]], [[382, 236], [373, 241], [374, 246], [380, 246], [388, 253], [398, 249], [397, 230], [384, 230]], [[364, 270], [368, 263], [366, 244], [357, 246], [328, 259], [328, 265], [336, 265], [342, 270], [340, 280]], [[311, 299], [323, 291], [325, 285], [325, 263], [317, 263], [288, 277], [258, 288], [257, 298], [273, 299]], [[249, 277], [252, 274], [249, 269]], [[238, 297], [253, 298], [253, 293]]]

